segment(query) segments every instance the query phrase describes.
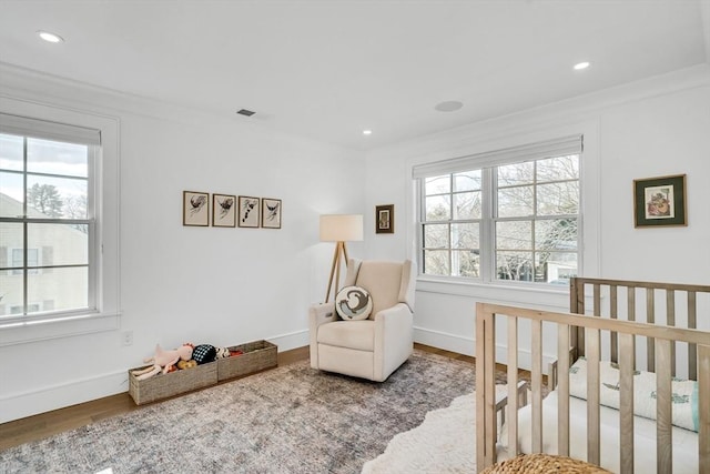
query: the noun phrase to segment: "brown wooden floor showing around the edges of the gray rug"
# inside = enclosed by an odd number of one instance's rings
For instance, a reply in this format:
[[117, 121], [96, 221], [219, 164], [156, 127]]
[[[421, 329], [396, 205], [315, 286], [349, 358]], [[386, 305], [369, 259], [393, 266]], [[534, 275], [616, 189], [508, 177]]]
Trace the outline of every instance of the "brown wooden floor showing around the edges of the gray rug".
[[[474, 363], [475, 359], [468, 355], [457, 354], [442, 349], [415, 344], [415, 347], [434, 354]], [[278, 365], [288, 365], [297, 361], [308, 359], [308, 347], [294, 349], [278, 353]], [[226, 382], [222, 382], [226, 383]], [[74, 430], [110, 416], [141, 410], [133, 403], [128, 392], [106, 396], [79, 405], [54, 410], [26, 418], [0, 424], [0, 451], [41, 440], [64, 431]]]

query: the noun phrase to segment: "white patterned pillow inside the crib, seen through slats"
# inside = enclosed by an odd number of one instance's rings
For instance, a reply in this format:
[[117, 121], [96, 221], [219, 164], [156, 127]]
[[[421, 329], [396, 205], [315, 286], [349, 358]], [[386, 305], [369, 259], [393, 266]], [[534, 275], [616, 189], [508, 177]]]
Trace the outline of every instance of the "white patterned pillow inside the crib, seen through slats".
[[[599, 403], [619, 410], [619, 366], [609, 361], [599, 363]], [[698, 382], [671, 381], [672, 424], [698, 432]], [[587, 360], [580, 357], [569, 367], [569, 394], [587, 400]], [[633, 414], [656, 420], [656, 374], [633, 372]]]

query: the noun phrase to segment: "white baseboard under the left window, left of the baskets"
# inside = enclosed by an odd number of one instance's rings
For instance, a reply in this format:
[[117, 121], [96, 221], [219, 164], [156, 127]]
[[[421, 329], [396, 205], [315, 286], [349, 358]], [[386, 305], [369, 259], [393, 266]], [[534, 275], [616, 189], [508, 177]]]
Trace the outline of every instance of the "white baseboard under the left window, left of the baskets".
[[67, 381], [33, 391], [2, 394], [0, 423], [128, 392], [128, 370], [125, 370]]

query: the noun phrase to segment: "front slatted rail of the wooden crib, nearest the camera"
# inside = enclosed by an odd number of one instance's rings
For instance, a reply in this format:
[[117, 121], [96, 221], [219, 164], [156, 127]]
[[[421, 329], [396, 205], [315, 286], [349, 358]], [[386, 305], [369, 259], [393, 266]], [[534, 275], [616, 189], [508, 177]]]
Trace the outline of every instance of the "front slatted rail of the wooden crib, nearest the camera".
[[[508, 400], [517, 400], [518, 384], [518, 321], [531, 324], [531, 426], [532, 452], [542, 451], [542, 324], [557, 326], [558, 343], [558, 453], [569, 455], [569, 366], [570, 333], [578, 327], [585, 333], [584, 350], [587, 357], [587, 456], [592, 464], [600, 464], [600, 404], [599, 362], [600, 333], [618, 334], [619, 363], [619, 433], [621, 473], [633, 472], [633, 360], [636, 337], [653, 340], [657, 374], [657, 466], [658, 472], [672, 471], [671, 431], [671, 347], [676, 342], [696, 344], [699, 384], [699, 462], [700, 472], [710, 472], [710, 332], [661, 326], [657, 324], [619, 321], [590, 315], [535, 311], [529, 309], [476, 304], [476, 444], [477, 468], [496, 462], [496, 394], [495, 363], [496, 317], [505, 317], [508, 347]], [[508, 452], [518, 453], [517, 403], [507, 404]]]

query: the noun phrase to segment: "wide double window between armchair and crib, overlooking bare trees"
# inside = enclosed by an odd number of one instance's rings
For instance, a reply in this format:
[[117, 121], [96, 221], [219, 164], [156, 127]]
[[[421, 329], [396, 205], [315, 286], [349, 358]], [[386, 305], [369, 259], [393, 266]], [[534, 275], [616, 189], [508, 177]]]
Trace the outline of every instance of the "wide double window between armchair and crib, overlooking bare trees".
[[415, 167], [420, 273], [565, 284], [581, 266], [581, 137]]

